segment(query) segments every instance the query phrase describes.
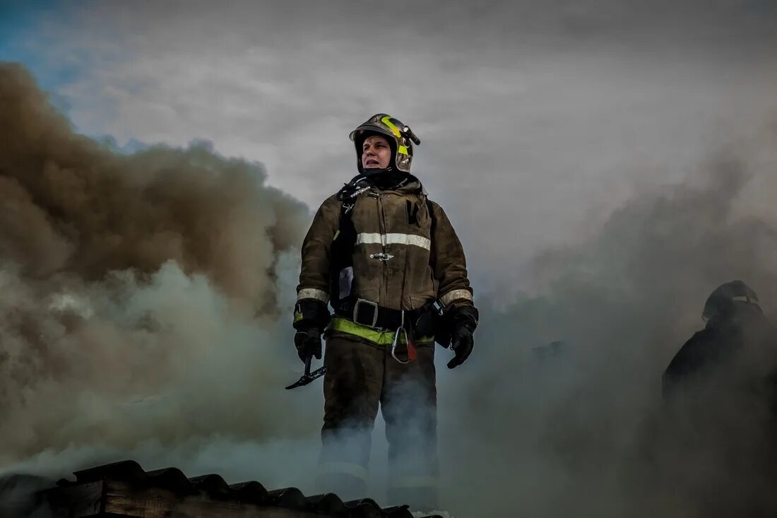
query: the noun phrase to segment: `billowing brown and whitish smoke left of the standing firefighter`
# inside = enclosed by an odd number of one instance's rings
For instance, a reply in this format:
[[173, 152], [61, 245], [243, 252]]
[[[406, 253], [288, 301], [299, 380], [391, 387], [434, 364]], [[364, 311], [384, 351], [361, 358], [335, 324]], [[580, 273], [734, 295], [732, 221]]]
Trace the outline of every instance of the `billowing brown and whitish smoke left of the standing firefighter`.
[[203, 143], [124, 155], [77, 135], [19, 65], [0, 65], [0, 99], [3, 470], [224, 471], [205, 445], [245, 443], [248, 465], [270, 438], [307, 441], [318, 399], [278, 390], [299, 374], [307, 208]]

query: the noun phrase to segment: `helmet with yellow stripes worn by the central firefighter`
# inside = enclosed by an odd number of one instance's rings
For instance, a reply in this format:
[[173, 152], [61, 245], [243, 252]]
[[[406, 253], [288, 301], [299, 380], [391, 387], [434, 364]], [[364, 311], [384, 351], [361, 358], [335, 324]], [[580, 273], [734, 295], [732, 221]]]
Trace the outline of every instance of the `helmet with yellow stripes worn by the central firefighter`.
[[360, 173], [364, 173], [361, 167], [361, 152], [364, 140], [370, 135], [382, 135], [389, 141], [392, 150], [392, 159], [387, 169], [410, 172], [410, 163], [413, 162], [413, 143], [420, 144], [420, 138], [416, 137], [413, 130], [406, 124], [402, 124], [394, 117], [387, 114], [373, 115], [368, 121], [350, 132], [350, 139], [356, 146], [356, 163]]

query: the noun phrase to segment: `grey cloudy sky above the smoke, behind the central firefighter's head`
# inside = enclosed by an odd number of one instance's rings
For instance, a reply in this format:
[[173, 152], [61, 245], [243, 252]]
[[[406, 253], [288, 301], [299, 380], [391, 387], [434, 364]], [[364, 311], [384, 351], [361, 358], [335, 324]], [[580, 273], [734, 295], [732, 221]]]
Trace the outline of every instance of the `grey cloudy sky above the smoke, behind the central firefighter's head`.
[[394, 114], [423, 141], [414, 172], [451, 215], [476, 285], [503, 294], [525, 287], [515, 264], [591, 232], [636, 189], [681, 179], [777, 103], [769, 2], [75, 9], [38, 44], [82, 72], [61, 91], [80, 131], [210, 139], [315, 208], [354, 173], [350, 130]]

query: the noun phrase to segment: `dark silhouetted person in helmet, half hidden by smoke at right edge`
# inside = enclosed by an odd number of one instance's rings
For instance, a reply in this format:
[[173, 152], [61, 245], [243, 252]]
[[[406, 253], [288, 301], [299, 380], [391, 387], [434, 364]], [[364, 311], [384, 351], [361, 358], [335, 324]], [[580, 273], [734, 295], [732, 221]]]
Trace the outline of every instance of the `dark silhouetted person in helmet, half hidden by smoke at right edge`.
[[662, 380], [662, 478], [699, 516], [775, 516], [777, 330], [741, 281], [715, 289], [702, 317]]

